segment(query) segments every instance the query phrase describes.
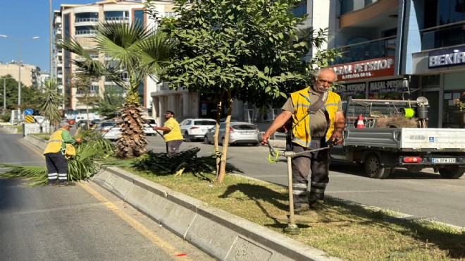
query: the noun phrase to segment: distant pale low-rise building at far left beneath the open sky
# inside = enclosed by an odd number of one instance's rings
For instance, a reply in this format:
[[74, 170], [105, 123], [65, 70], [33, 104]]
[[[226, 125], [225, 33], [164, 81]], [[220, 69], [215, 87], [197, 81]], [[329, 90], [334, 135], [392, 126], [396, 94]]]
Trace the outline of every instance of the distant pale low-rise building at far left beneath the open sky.
[[[20, 72], [21, 70], [21, 72]], [[30, 64], [19, 64], [16, 61], [11, 63], [0, 63], [0, 76], [11, 75], [16, 81], [21, 73], [21, 83], [27, 87], [40, 86], [40, 68]]]

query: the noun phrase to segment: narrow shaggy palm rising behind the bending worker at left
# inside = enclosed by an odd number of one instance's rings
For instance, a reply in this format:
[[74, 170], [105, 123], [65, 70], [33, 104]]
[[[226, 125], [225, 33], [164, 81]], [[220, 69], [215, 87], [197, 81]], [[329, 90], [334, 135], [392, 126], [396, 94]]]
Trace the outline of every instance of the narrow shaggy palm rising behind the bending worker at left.
[[61, 113], [58, 107], [63, 104], [63, 96], [58, 94], [58, 84], [55, 80], [46, 80], [44, 85], [44, 95], [39, 97], [40, 114], [44, 115], [45, 119], [50, 121], [50, 125], [58, 128], [58, 123], [61, 120]]

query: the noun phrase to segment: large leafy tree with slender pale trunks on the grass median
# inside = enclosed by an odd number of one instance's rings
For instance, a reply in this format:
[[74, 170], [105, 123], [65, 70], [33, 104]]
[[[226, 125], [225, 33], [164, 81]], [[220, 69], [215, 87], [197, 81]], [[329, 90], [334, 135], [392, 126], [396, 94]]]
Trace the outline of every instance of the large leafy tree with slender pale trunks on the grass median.
[[[162, 30], [176, 43], [164, 80], [174, 89], [216, 93], [217, 111], [228, 109], [226, 129], [234, 99], [258, 106], [283, 102], [287, 93], [309, 84], [311, 66], [306, 54], [326, 40], [325, 30], [298, 29], [306, 16], [293, 16], [291, 9], [297, 2], [175, 0], [178, 16], [161, 21]], [[216, 181], [222, 183], [229, 133], [219, 152], [218, 124], [216, 130]]]

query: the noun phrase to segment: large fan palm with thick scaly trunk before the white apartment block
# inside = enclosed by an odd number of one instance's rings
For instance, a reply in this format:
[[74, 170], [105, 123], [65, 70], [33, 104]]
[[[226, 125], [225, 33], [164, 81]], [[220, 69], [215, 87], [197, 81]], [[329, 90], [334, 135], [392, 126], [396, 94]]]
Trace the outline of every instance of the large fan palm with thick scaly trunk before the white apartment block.
[[[141, 23], [101, 23], [96, 28], [94, 42], [105, 61], [95, 61], [75, 39], [57, 43], [58, 47], [71, 51], [80, 60], [73, 63], [81, 73], [94, 77], [104, 76], [123, 87], [127, 93], [123, 109], [120, 110], [122, 137], [116, 142], [115, 153], [122, 159], [138, 157], [147, 152], [147, 137], [143, 131], [144, 121], [140, 115], [142, 109], [137, 87], [147, 75], [163, 74], [163, 68], [169, 62], [172, 49], [171, 39], [159, 30], [147, 30]], [[82, 60], [84, 59], [84, 60]], [[128, 78], [122, 78], [127, 73]]]

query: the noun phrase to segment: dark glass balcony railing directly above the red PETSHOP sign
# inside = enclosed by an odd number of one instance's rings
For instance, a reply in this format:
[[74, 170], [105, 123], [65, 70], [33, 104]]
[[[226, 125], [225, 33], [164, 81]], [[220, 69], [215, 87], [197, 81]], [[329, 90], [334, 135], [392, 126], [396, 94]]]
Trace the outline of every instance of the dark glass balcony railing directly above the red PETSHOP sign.
[[352, 63], [369, 59], [395, 56], [395, 41], [397, 37], [385, 37], [377, 40], [360, 42], [358, 44], [337, 47], [342, 51], [342, 58], [337, 58], [334, 64]]

